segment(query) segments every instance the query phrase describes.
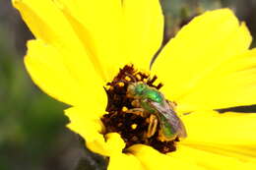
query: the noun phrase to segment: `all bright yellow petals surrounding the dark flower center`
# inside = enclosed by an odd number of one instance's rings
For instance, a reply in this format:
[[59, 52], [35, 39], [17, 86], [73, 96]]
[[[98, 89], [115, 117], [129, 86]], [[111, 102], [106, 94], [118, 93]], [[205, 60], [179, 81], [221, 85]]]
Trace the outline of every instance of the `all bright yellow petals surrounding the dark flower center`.
[[149, 72], [160, 48], [163, 19], [158, 0], [13, 0], [35, 36], [26, 67], [33, 82], [72, 105], [68, 127], [108, 169], [256, 169], [256, 114], [213, 110], [255, 104], [256, 50], [251, 35], [228, 9], [206, 12], [182, 28], [161, 50], [151, 74], [177, 103], [188, 137], [176, 151], [103, 137], [103, 85], [124, 65]]

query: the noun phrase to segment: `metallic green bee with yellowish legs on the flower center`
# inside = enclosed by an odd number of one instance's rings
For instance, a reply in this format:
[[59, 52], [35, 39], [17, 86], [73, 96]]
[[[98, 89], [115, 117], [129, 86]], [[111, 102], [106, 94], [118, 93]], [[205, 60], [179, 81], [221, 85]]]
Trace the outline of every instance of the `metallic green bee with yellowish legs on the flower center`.
[[147, 137], [154, 136], [158, 123], [160, 124], [159, 139], [169, 142], [178, 138], [186, 138], [186, 130], [171, 106], [160, 91], [144, 83], [128, 85], [127, 96], [134, 98], [132, 105], [136, 108], [128, 110], [130, 113], [150, 115]]

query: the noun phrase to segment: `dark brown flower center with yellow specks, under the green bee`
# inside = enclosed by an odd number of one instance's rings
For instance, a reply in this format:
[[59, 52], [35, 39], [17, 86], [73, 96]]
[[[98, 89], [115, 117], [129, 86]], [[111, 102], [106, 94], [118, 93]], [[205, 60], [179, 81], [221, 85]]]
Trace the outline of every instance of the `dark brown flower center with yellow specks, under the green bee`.
[[170, 109], [174, 106], [160, 93], [162, 84], [154, 85], [156, 80], [157, 76], [151, 79], [150, 75], [126, 65], [105, 87], [108, 113], [101, 121], [106, 134], [115, 132], [121, 135], [126, 142], [125, 148], [142, 143], [162, 153], [176, 149], [179, 136], [161, 114], [161, 110], [167, 109], [176, 116]]

